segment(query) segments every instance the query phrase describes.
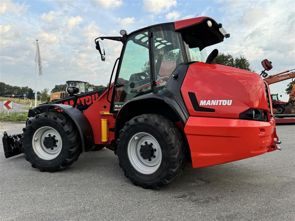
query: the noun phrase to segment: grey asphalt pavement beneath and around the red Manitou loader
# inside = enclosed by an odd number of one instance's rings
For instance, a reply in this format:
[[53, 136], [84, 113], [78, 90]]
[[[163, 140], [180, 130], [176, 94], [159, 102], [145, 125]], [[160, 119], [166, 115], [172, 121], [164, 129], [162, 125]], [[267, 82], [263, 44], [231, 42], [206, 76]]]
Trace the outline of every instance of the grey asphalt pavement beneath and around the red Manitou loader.
[[[24, 124], [1, 123], [1, 136]], [[295, 220], [295, 126], [277, 126], [281, 151], [193, 169], [160, 190], [124, 177], [108, 149], [40, 172], [0, 146], [1, 220]]]

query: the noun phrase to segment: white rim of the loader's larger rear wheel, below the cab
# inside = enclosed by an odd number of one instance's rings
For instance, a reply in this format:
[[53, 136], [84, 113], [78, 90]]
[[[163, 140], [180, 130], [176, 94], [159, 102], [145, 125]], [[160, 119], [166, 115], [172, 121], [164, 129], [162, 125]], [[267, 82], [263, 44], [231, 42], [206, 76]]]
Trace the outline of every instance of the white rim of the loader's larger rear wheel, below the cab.
[[[152, 147], [156, 149], [154, 156], [149, 159], [143, 159], [140, 155], [141, 145], [153, 144]], [[149, 133], [136, 133], [128, 142], [127, 146], [128, 159], [134, 169], [142, 174], [152, 174], [160, 167], [162, 161], [162, 151], [156, 138]]]

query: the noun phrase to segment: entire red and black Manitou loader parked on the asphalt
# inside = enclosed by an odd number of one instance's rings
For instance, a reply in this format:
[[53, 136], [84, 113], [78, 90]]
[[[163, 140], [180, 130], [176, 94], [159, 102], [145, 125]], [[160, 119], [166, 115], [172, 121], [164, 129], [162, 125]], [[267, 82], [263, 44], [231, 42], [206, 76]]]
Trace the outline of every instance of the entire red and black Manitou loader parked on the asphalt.
[[[4, 134], [5, 156], [58, 171], [84, 151], [106, 147], [133, 184], [157, 189], [175, 180], [186, 157], [194, 168], [279, 147], [268, 85], [253, 72], [212, 64], [205, 48], [230, 37], [209, 17], [157, 24], [119, 37], [108, 88], [47, 102], [28, 114], [23, 134]], [[92, 94], [93, 93], [93, 94]]]

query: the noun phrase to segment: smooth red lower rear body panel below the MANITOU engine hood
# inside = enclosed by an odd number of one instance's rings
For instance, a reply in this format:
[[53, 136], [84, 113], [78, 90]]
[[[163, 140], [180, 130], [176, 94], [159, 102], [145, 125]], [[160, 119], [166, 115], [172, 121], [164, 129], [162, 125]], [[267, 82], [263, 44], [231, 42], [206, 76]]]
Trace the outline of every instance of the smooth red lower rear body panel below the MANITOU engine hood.
[[277, 149], [276, 124], [227, 118], [189, 117], [184, 128], [194, 168], [245, 159]]

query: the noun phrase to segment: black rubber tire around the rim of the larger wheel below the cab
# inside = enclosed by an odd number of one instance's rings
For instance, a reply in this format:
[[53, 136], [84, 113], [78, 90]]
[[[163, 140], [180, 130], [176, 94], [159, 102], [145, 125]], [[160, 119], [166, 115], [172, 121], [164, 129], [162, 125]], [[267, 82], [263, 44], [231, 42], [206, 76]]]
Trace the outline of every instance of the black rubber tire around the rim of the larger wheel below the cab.
[[[138, 132], [151, 134], [160, 145], [162, 160], [159, 168], [152, 174], [140, 173], [132, 166], [128, 158], [128, 142]], [[185, 166], [182, 134], [174, 123], [156, 114], [143, 114], [128, 121], [120, 131], [116, 154], [125, 177], [130, 179], [134, 185], [145, 189], [159, 189], [170, 184], [179, 177]]]

